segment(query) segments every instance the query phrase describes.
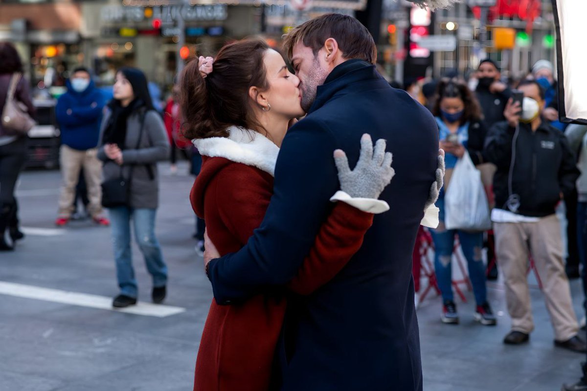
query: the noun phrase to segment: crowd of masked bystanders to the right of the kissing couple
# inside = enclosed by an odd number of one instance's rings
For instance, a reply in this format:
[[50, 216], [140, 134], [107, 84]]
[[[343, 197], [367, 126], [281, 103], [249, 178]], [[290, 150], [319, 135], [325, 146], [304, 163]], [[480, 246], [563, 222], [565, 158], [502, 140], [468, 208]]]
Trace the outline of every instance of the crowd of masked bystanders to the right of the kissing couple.
[[[522, 344], [534, 329], [527, 280], [529, 270], [534, 270], [551, 316], [555, 345], [585, 352], [585, 341], [578, 335], [585, 317], [580, 325], [568, 281], [579, 278], [580, 265], [585, 264], [587, 126], [559, 121], [554, 75], [553, 64], [539, 60], [522, 79], [504, 80], [498, 64], [484, 59], [468, 80], [454, 72], [440, 80], [404, 83], [407, 93], [436, 118], [447, 167], [437, 202], [440, 225], [430, 232], [421, 228], [414, 249], [414, 277], [419, 291], [419, 277], [426, 277], [420, 271], [421, 254], [433, 244], [435, 274], [430, 282], [442, 297], [441, 321], [458, 324], [453, 289], [460, 291], [452, 280], [451, 264], [460, 247], [477, 302], [475, 318], [494, 325], [497, 320], [485, 285], [497, 279], [499, 267], [512, 319], [504, 343]], [[480, 179], [466, 176], [467, 181], [481, 181], [485, 196], [485, 202], [474, 204], [478, 209], [474, 212], [485, 217], [473, 225], [455, 222], [458, 208], [445, 207], [450, 193], [459, 189], [469, 191], [469, 198], [476, 196], [475, 186], [463, 188], [462, 181], [457, 182], [461, 178], [456, 176], [467, 175], [465, 160], [480, 174]], [[468, 205], [466, 199], [464, 204]]]

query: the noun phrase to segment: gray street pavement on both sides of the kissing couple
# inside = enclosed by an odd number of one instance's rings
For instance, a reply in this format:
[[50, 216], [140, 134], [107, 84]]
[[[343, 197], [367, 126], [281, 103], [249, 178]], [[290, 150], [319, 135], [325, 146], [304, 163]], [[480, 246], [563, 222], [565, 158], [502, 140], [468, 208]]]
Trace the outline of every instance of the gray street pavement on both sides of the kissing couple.
[[[1, 391], [191, 390], [211, 288], [191, 237], [193, 178], [186, 164], [177, 176], [167, 174], [168, 165], [160, 169], [157, 235], [170, 272], [166, 304], [186, 311], [157, 318], [0, 294]], [[0, 253], [0, 283], [113, 297], [110, 230], [86, 220], [54, 235], [58, 186], [58, 171], [22, 175], [22, 225], [48, 230], [29, 234], [14, 253]], [[149, 274], [133, 250], [139, 299], [149, 302]], [[541, 292], [530, 280], [536, 330], [524, 346], [501, 343], [509, 326], [501, 283], [489, 283], [497, 327], [473, 321], [468, 291], [467, 303], [457, 299], [460, 325], [441, 324], [440, 298], [426, 298], [418, 311], [424, 390], [552, 391], [578, 378], [585, 356], [553, 346]], [[571, 288], [581, 317], [579, 282]]]

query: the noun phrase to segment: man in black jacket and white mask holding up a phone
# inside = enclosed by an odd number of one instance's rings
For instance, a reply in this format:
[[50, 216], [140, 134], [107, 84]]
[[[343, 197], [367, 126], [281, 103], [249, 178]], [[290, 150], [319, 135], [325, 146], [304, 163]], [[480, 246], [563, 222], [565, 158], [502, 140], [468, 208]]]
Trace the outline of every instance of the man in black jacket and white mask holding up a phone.
[[497, 166], [491, 220], [512, 319], [504, 344], [527, 342], [534, 329], [527, 280], [532, 254], [554, 327], [555, 346], [585, 353], [587, 345], [577, 334], [579, 324], [555, 215], [556, 205], [571, 194], [579, 171], [565, 136], [542, 120], [545, 101], [540, 84], [524, 80], [518, 89], [524, 93], [522, 107], [509, 100], [504, 111], [507, 121], [495, 124], [485, 143], [485, 156]]

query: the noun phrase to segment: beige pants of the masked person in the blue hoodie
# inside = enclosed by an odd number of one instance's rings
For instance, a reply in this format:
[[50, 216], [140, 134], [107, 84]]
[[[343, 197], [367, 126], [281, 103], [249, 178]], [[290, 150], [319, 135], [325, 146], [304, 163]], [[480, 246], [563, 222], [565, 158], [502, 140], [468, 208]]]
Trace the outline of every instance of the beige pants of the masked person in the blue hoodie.
[[92, 217], [102, 215], [102, 162], [96, 157], [97, 149], [78, 151], [61, 146], [60, 159], [63, 183], [59, 196], [59, 217], [71, 217], [73, 213], [73, 199], [79, 179], [79, 171], [83, 167], [83, 176], [86, 179], [87, 198], [90, 200], [87, 212]]

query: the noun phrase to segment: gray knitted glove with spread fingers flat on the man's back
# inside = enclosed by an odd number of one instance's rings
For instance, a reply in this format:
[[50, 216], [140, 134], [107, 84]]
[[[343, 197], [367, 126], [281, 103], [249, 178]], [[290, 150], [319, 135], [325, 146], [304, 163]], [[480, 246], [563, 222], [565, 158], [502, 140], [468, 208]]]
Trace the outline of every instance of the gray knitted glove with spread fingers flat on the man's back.
[[334, 160], [338, 169], [340, 190], [353, 198], [379, 198], [396, 174], [392, 168], [392, 154], [385, 152], [386, 147], [385, 140], [379, 139], [373, 149], [371, 136], [363, 134], [359, 161], [353, 171], [350, 171], [345, 152], [336, 149]]

